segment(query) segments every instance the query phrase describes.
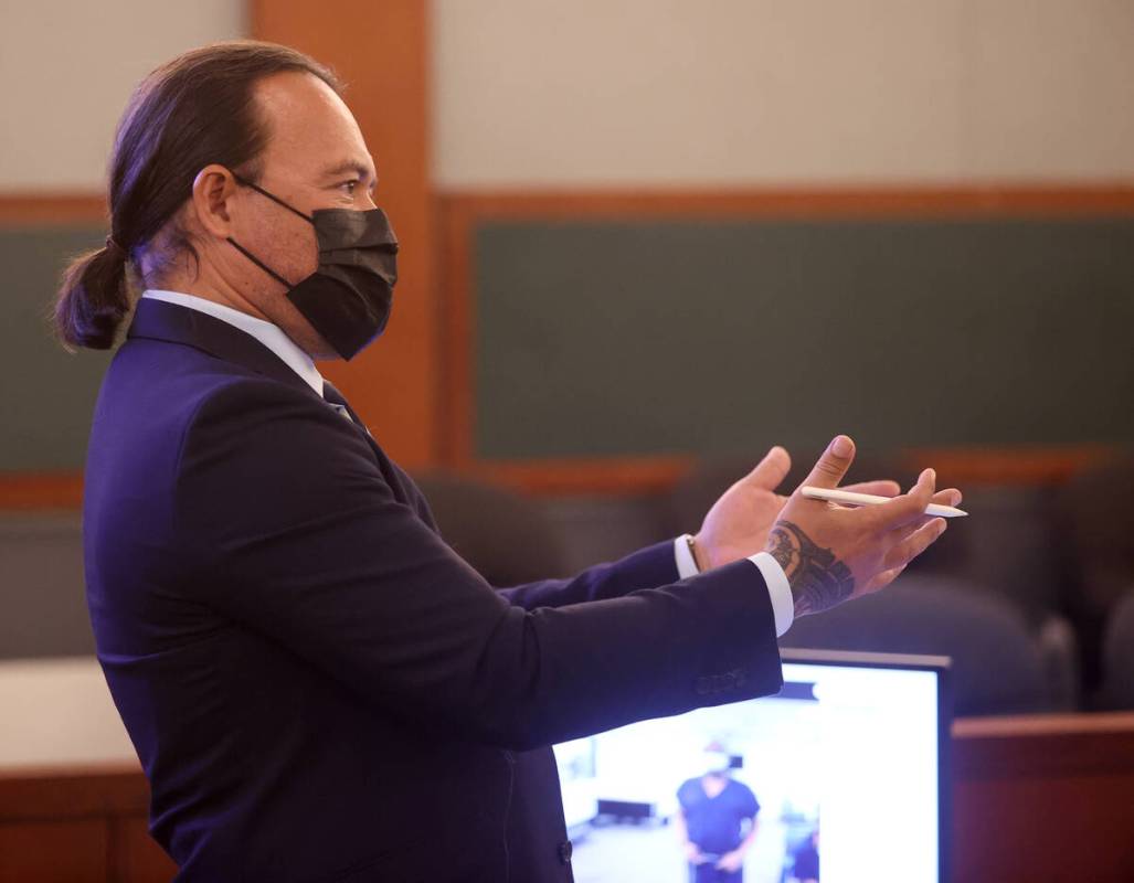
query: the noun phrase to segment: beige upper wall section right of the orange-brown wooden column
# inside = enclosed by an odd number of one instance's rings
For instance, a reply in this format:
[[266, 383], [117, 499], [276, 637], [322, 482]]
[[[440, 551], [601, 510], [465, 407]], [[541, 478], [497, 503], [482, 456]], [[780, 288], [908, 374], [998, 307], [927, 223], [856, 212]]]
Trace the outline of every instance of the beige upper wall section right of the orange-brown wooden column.
[[432, 0], [443, 187], [1134, 178], [1129, 0]]

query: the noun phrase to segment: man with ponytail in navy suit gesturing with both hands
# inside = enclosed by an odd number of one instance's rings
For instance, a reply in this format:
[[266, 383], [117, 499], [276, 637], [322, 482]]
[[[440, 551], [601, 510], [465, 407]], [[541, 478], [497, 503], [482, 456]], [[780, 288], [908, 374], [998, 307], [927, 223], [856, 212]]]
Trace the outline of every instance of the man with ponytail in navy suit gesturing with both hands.
[[386, 324], [375, 181], [325, 68], [205, 46], [135, 93], [111, 236], [60, 292], [65, 340], [107, 347], [128, 273], [147, 288], [94, 416], [87, 596], [180, 881], [570, 880], [548, 746], [775, 693], [793, 605], [880, 587], [943, 529], [929, 470], [871, 510], [785, 507], [775, 449], [696, 537], [488, 586], [314, 364]]

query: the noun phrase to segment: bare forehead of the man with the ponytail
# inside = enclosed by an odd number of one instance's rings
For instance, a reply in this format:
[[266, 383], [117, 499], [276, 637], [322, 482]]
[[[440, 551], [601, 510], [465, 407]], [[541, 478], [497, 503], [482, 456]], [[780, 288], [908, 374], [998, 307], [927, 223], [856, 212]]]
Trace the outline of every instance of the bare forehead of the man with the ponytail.
[[276, 74], [257, 83], [253, 94], [269, 129], [262, 156], [265, 175], [312, 178], [346, 161], [371, 164], [354, 114], [319, 77]]

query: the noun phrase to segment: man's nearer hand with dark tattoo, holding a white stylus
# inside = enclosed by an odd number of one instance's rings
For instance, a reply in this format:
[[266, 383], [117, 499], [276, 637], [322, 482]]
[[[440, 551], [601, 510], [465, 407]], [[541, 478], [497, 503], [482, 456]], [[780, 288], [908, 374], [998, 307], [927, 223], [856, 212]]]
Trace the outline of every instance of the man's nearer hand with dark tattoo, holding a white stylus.
[[[837, 487], [853, 460], [854, 442], [839, 435], [801, 487]], [[928, 517], [925, 507], [956, 506], [960, 492], [934, 496], [936, 481], [925, 469], [908, 493], [862, 508], [810, 500], [796, 489], [768, 537], [768, 552], [792, 586], [795, 614], [820, 613], [877, 592], [945, 533], [945, 519]]]

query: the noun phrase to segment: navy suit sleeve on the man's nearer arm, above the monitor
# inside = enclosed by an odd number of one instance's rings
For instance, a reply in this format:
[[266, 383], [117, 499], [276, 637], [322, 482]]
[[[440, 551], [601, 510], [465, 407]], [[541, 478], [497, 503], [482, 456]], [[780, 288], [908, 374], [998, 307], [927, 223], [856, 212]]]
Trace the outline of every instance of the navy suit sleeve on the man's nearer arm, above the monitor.
[[280, 384], [242, 380], [198, 408], [175, 509], [187, 591], [449, 737], [523, 750], [782, 682], [750, 562], [526, 610], [396, 499], [361, 432]]

